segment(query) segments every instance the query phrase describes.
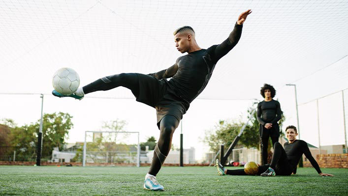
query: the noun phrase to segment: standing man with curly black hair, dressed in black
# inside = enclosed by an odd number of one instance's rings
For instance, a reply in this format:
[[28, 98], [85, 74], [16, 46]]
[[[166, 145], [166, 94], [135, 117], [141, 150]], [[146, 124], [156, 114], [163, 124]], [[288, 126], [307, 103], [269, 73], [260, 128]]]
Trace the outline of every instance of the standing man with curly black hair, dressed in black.
[[280, 103], [273, 99], [276, 90], [272, 85], [264, 84], [260, 94], [264, 100], [257, 104], [257, 121], [260, 123], [262, 164], [267, 164], [268, 138], [271, 136], [274, 148], [280, 136], [278, 121], [282, 118], [282, 110]]

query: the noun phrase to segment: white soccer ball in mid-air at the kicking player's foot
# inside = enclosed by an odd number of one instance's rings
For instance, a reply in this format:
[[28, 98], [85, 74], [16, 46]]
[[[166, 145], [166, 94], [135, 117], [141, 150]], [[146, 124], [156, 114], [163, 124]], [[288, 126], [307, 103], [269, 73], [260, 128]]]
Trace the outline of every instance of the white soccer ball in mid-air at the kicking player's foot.
[[63, 67], [53, 75], [52, 85], [58, 93], [71, 95], [80, 85], [79, 74], [72, 68]]

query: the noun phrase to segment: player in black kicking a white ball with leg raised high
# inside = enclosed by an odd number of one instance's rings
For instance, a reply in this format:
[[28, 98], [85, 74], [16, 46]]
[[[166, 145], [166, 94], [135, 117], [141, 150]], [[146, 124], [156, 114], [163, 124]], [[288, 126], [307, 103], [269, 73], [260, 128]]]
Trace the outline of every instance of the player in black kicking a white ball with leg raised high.
[[[173, 133], [192, 100], [206, 87], [217, 62], [238, 43], [243, 23], [251, 12], [249, 9], [241, 13], [228, 38], [208, 49], [198, 46], [191, 27], [177, 29], [174, 32], [175, 47], [179, 52], [188, 54], [179, 57], [167, 69], [148, 75], [121, 73], [106, 76], [79, 88], [73, 95], [63, 96], [57, 91], [52, 94], [57, 97], [82, 99], [88, 93], [122, 86], [130, 89], [137, 101], [156, 108], [160, 133], [150, 170], [145, 176], [144, 189], [163, 190], [156, 175], [169, 153]], [[167, 81], [166, 78], [171, 79]]]

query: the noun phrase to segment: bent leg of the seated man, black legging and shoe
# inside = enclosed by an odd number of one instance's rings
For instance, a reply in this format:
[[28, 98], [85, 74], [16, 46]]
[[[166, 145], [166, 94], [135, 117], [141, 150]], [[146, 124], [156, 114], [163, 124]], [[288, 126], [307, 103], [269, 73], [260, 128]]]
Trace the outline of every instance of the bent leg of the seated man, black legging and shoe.
[[261, 174], [261, 176], [275, 176], [276, 175], [275, 169], [277, 165], [279, 165], [280, 163], [282, 165], [283, 162], [288, 163], [287, 155], [282, 144], [280, 144], [279, 142], [276, 142], [273, 148], [274, 148], [274, 152], [272, 156], [271, 165], [269, 166], [267, 171]]

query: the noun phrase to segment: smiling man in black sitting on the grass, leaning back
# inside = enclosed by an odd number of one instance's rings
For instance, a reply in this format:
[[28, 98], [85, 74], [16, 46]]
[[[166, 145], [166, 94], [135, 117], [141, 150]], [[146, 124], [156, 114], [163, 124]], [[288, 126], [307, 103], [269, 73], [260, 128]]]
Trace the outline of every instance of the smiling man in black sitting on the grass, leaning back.
[[[271, 165], [258, 166], [257, 175], [261, 176], [287, 176], [296, 174], [297, 164], [303, 154], [311, 162], [314, 168], [320, 176], [333, 176], [332, 174], [322, 173], [318, 163], [313, 158], [311, 151], [309, 151], [308, 145], [305, 141], [296, 139], [298, 135], [295, 126], [288, 126], [285, 129], [285, 135], [288, 139], [284, 144], [284, 148], [279, 142], [274, 144], [274, 152], [272, 156]], [[219, 175], [247, 175], [244, 169], [225, 169], [219, 160], [216, 160], [216, 167], [218, 168]]]

